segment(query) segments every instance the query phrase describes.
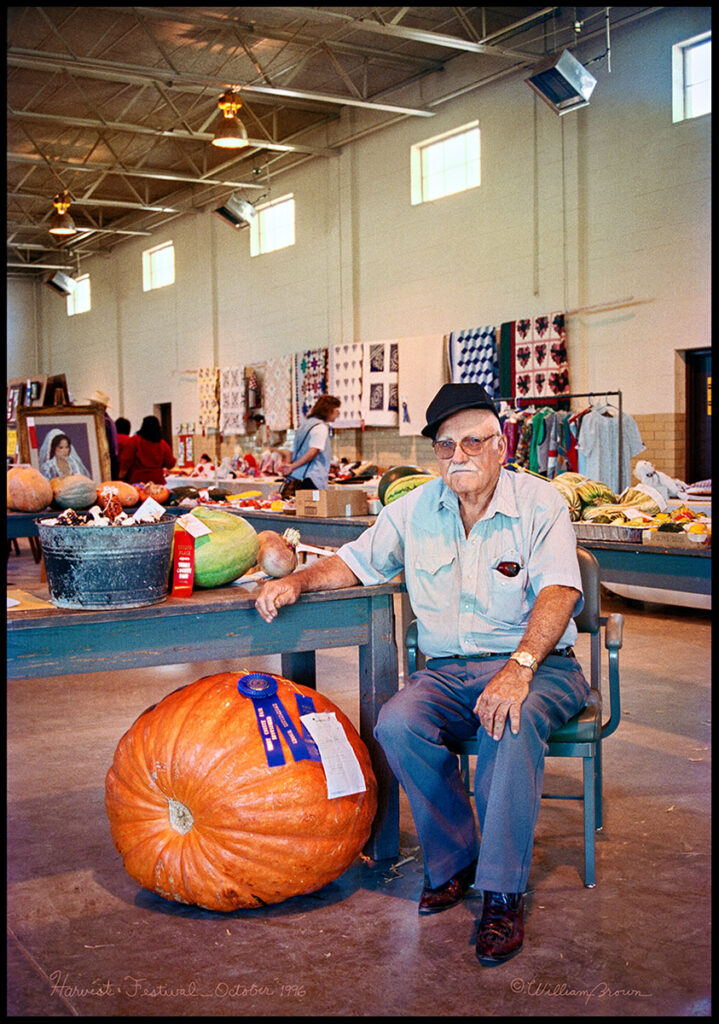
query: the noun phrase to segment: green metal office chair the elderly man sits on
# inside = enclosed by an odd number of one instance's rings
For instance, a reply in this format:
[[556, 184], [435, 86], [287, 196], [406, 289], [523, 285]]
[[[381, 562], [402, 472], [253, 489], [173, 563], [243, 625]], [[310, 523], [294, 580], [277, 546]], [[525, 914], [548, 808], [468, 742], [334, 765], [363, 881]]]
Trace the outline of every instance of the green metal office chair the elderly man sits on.
[[[599, 563], [594, 555], [578, 548], [584, 607], [575, 622], [580, 633], [590, 635], [591, 692], [586, 707], [549, 737], [548, 757], [582, 758], [584, 786], [582, 794], [543, 794], [548, 800], [581, 800], [584, 802], [584, 884], [588, 889], [596, 885], [594, 865], [594, 833], [601, 828], [601, 743], [619, 725], [621, 716], [619, 652], [622, 647], [624, 615], [600, 615]], [[601, 631], [604, 629], [604, 646], [608, 652], [608, 718], [602, 723], [601, 692]], [[407, 665], [410, 674], [424, 665], [424, 656], [417, 647], [417, 622], [413, 621], [405, 638]], [[586, 669], [585, 669], [586, 673]], [[460, 759], [460, 771], [467, 793], [471, 796], [469, 757], [476, 754], [476, 741], [468, 739], [455, 743], [451, 750]]]

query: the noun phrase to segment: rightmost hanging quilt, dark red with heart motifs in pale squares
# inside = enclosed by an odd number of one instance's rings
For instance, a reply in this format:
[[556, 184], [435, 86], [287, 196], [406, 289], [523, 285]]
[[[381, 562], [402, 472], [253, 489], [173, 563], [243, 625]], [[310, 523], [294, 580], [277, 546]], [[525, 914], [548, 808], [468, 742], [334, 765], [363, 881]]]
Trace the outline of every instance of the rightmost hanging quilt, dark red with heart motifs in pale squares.
[[500, 377], [510, 378], [503, 397], [541, 398], [552, 404], [569, 391], [564, 313], [544, 313], [503, 324]]

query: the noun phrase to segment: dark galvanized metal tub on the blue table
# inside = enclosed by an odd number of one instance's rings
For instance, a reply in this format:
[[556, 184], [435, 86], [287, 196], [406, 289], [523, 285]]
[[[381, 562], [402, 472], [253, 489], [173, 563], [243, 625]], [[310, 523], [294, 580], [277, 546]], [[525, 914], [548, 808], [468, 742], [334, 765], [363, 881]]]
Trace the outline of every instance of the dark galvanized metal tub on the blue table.
[[134, 526], [36, 521], [50, 600], [57, 607], [141, 608], [167, 598], [174, 516]]

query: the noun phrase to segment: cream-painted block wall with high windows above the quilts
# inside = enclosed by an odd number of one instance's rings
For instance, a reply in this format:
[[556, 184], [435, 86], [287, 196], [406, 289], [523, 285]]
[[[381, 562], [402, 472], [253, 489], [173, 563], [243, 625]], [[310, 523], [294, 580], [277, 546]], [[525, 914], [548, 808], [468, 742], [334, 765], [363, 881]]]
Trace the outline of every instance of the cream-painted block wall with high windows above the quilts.
[[[272, 198], [297, 204], [291, 249], [251, 258], [248, 230], [198, 213], [88, 260], [89, 313], [10, 281], [9, 375], [66, 373], [75, 400], [100, 387], [133, 429], [171, 401], [177, 425], [197, 420], [201, 366], [619, 303], [569, 318], [573, 390], [621, 388], [635, 415], [680, 411], [675, 353], [711, 344], [711, 115], [672, 124], [671, 47], [710, 25], [708, 7], [667, 7], [618, 31], [611, 73], [591, 65], [590, 105], [561, 118], [518, 75], [278, 175]], [[578, 55], [602, 50], [598, 37]], [[463, 55], [397, 99], [426, 104], [474, 77]], [[333, 137], [363, 117], [348, 112]], [[481, 186], [413, 207], [412, 143], [474, 119]], [[141, 252], [166, 239], [176, 284], [143, 293]]]

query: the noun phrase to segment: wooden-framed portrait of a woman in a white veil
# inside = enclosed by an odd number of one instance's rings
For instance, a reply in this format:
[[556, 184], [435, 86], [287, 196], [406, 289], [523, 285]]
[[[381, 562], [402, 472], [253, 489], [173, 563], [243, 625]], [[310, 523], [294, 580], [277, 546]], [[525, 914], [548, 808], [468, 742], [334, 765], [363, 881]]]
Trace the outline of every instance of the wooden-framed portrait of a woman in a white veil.
[[16, 415], [20, 462], [30, 463], [47, 479], [70, 473], [82, 473], [94, 483], [110, 479], [101, 406], [20, 406]]

